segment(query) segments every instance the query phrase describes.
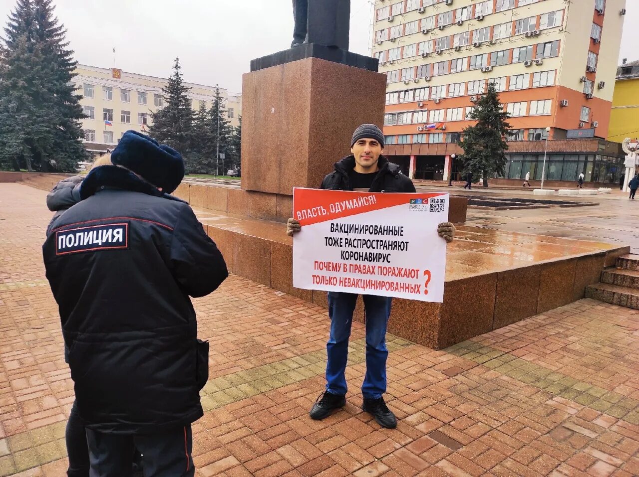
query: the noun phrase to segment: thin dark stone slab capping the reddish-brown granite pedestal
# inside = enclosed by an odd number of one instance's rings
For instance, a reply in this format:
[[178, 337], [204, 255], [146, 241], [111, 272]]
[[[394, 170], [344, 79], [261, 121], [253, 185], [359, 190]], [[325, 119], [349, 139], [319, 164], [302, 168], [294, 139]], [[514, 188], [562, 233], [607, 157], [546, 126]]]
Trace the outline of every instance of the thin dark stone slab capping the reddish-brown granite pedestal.
[[358, 55], [343, 48], [327, 47], [319, 43], [308, 43], [281, 52], [266, 55], [250, 61], [250, 71], [265, 70], [272, 66], [300, 61], [307, 58], [317, 58], [362, 70], [378, 71], [379, 60], [370, 56]]

